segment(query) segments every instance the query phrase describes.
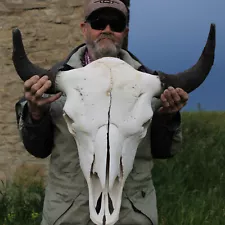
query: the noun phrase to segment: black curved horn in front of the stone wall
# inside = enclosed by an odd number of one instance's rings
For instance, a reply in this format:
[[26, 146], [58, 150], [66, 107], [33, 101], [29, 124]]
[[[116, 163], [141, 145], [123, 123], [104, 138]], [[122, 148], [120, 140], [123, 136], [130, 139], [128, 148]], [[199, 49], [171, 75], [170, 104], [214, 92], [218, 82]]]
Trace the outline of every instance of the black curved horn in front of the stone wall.
[[14, 67], [16, 69], [19, 77], [26, 81], [34, 75], [39, 75], [40, 77], [47, 75], [49, 80], [52, 81], [51, 88], [46, 93], [55, 93], [55, 76], [50, 73], [50, 71], [40, 68], [37, 65], [33, 64], [27, 57], [24, 50], [24, 45], [22, 41], [22, 35], [19, 29], [14, 29], [12, 32], [13, 39], [13, 54], [12, 60]]

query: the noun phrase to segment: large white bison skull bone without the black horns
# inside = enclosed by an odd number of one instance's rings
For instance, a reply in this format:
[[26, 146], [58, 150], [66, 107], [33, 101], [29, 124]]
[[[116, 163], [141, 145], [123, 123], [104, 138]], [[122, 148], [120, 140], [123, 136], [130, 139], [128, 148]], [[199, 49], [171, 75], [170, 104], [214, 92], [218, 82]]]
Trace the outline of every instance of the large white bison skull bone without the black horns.
[[[64, 118], [76, 140], [88, 184], [90, 218], [98, 225], [113, 225], [137, 147], [153, 115], [151, 100], [160, 94], [161, 82], [120, 59], [102, 58], [60, 72], [56, 85], [67, 96]], [[96, 210], [98, 200], [100, 211]]]

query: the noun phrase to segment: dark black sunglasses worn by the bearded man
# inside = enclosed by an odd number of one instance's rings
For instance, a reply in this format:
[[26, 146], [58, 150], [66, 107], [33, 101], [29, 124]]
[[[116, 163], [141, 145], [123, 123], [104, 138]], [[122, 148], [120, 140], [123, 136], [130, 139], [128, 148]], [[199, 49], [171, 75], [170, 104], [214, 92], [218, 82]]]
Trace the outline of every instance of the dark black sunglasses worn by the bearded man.
[[91, 25], [91, 28], [94, 30], [104, 30], [107, 25], [110, 26], [113, 32], [123, 32], [126, 28], [126, 21], [119, 19], [106, 19], [106, 18], [97, 18], [93, 20], [87, 20], [87, 23]]

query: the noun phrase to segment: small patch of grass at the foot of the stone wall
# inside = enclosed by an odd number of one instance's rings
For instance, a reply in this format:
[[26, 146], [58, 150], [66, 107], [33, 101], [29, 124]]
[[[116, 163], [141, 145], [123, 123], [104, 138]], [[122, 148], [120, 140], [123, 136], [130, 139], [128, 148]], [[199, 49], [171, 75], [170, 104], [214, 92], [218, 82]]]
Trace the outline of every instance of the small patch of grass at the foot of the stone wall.
[[43, 182], [3, 184], [0, 190], [0, 225], [40, 225], [43, 200]]

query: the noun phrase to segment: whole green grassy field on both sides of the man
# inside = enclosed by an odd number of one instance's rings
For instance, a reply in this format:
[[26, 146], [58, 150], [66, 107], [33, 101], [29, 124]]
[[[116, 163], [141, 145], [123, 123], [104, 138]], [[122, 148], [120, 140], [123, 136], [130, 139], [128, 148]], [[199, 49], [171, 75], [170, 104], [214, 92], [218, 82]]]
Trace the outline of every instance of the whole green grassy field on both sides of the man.
[[[225, 112], [182, 113], [184, 145], [155, 161], [159, 225], [225, 224]], [[24, 183], [25, 181], [22, 181]], [[0, 225], [40, 225], [41, 181], [0, 192]]]

